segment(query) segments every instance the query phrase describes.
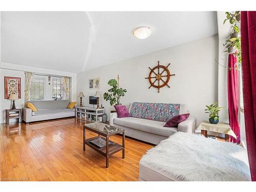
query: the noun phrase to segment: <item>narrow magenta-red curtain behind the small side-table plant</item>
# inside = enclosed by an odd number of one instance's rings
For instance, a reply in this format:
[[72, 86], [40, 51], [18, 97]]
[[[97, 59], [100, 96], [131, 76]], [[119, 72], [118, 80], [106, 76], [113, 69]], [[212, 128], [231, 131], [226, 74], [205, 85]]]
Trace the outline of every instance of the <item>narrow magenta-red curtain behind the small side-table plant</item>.
[[227, 70], [227, 95], [228, 95], [228, 118], [229, 125], [237, 139], [230, 137], [233, 143], [240, 143], [240, 126], [238, 122], [238, 109], [239, 109], [239, 79], [238, 70], [233, 69], [237, 63], [237, 57], [233, 54], [228, 55], [228, 70]]

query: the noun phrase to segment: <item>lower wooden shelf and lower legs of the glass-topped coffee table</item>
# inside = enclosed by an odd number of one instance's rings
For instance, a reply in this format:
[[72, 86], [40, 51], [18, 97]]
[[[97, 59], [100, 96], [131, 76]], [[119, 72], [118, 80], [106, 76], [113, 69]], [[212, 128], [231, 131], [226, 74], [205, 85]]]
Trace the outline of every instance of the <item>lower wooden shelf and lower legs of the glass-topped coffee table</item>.
[[[97, 147], [96, 145], [90, 143], [91, 140], [94, 140], [94, 139], [97, 139], [97, 138], [100, 138], [100, 136], [97, 136], [97, 137], [92, 137], [92, 138], [89, 138], [89, 139], [86, 139], [84, 140], [84, 144], [90, 146], [91, 148], [93, 148], [95, 151], [97, 151], [98, 153], [100, 153], [101, 155], [105, 156], [106, 157], [106, 167], [108, 168], [109, 167], [109, 157], [119, 151], [122, 151], [123, 150], [123, 157], [124, 158], [124, 146], [118, 144], [118, 143], [115, 143], [113, 141], [113, 144], [110, 144], [109, 145], [109, 148], [108, 148], [108, 152], [107, 152], [107, 149], [106, 149], [106, 146], [102, 147], [102, 148], [99, 148]], [[84, 148], [84, 151], [85, 151], [85, 148]]]

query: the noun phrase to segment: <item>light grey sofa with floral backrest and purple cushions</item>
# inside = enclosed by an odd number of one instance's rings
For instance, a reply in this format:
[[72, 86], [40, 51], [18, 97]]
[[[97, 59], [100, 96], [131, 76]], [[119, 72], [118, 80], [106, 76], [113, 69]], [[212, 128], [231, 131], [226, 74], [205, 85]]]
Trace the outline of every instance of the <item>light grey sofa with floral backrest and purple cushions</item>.
[[[154, 103], [153, 103], [154, 104]], [[131, 112], [133, 102], [129, 106]], [[179, 114], [188, 113], [185, 104], [180, 104]], [[110, 114], [110, 125], [120, 127], [125, 130], [125, 135], [139, 139], [145, 142], [159, 144], [161, 140], [167, 139], [170, 135], [178, 131], [195, 133], [196, 118], [189, 117], [185, 121], [179, 123], [178, 127], [164, 127], [165, 122], [149, 119], [125, 117], [118, 118], [117, 113]]]

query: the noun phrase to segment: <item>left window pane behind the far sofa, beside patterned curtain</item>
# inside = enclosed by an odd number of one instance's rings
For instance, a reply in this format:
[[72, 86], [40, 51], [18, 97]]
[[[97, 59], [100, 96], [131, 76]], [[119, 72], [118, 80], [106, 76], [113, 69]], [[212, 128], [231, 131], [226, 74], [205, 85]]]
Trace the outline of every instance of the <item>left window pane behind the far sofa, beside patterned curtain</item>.
[[30, 89], [30, 100], [40, 101], [45, 99], [45, 78], [35, 76]]

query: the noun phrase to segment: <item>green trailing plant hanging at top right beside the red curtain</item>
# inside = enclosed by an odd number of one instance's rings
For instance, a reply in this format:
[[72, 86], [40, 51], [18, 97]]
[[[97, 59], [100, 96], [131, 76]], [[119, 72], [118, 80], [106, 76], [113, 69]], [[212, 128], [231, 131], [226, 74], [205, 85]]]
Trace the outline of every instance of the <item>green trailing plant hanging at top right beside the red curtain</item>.
[[234, 65], [234, 69], [238, 70], [241, 67], [242, 62], [242, 52], [241, 52], [241, 37], [240, 37], [240, 11], [234, 13], [226, 12], [226, 19], [223, 24], [229, 20], [232, 25], [230, 29], [230, 34], [227, 40], [224, 42], [225, 46], [224, 52], [232, 53], [237, 57], [237, 63]]

